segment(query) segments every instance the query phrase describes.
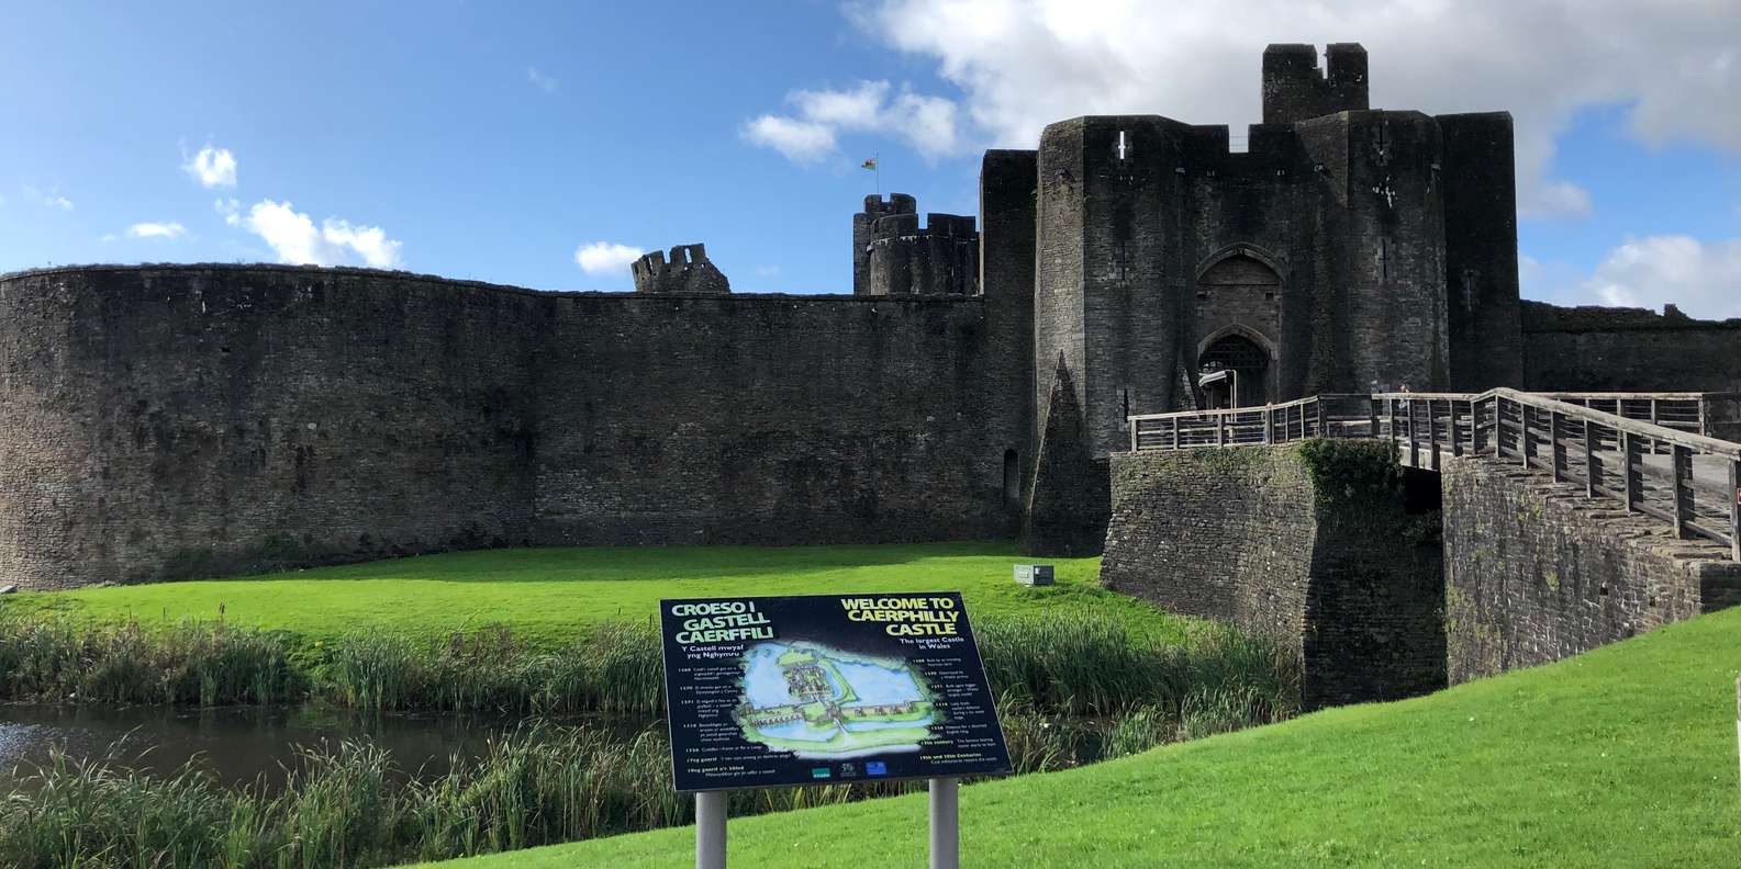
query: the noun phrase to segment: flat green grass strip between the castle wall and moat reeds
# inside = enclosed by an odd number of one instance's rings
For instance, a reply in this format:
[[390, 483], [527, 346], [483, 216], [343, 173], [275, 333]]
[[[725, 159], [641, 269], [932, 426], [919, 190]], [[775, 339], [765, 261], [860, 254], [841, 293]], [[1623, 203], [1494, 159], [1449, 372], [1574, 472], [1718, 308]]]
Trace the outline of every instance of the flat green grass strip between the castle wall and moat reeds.
[[1012, 580], [1010, 542], [916, 546], [677, 546], [494, 549], [261, 577], [21, 593], [3, 607], [91, 619], [223, 619], [308, 638], [359, 629], [437, 634], [505, 622], [555, 643], [597, 620], [648, 620], [660, 598], [961, 591], [975, 619], [1104, 614], [1144, 636], [1175, 638], [1189, 619], [1099, 586], [1099, 558], [1048, 560], [1057, 586]]

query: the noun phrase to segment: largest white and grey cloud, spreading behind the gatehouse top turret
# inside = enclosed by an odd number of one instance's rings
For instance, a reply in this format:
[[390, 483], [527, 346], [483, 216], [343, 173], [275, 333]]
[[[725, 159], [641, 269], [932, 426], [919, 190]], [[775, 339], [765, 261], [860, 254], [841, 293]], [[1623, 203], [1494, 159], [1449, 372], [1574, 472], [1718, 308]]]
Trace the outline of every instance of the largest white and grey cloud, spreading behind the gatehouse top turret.
[[[1647, 143], [1741, 151], [1741, 111], [1718, 108], [1741, 92], [1734, 2], [1179, 0], [1156, 14], [1153, 0], [869, 0], [848, 9], [874, 38], [933, 61], [965, 96], [958, 111], [996, 148], [1032, 148], [1046, 123], [1076, 115], [1158, 113], [1238, 132], [1260, 115], [1264, 43], [1285, 35], [1361, 42], [1377, 108], [1511, 111], [1525, 214], [1590, 210], [1588, 193], [1551, 174], [1553, 139], [1583, 106], [1628, 104]], [[942, 127], [942, 109], [931, 113]]]

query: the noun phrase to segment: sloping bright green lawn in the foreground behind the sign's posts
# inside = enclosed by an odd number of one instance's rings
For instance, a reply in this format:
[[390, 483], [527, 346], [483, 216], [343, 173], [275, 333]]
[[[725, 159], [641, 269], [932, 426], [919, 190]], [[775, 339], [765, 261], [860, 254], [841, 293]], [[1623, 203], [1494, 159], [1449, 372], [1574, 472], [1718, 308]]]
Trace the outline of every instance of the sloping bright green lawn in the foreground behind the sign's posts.
[[[965, 787], [963, 866], [1741, 866], [1741, 608], [1431, 697]], [[924, 866], [924, 798], [731, 822], [733, 866]], [[440, 864], [670, 867], [693, 827]]]

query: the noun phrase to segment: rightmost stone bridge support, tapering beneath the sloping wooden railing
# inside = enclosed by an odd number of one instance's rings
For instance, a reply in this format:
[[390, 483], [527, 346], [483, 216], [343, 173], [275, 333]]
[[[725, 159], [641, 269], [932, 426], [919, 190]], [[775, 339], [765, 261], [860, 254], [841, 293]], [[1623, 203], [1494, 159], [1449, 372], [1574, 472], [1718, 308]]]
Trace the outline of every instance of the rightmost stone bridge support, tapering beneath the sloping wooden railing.
[[1487, 459], [1443, 464], [1452, 683], [1546, 664], [1741, 603], [1729, 547], [1584, 487]]

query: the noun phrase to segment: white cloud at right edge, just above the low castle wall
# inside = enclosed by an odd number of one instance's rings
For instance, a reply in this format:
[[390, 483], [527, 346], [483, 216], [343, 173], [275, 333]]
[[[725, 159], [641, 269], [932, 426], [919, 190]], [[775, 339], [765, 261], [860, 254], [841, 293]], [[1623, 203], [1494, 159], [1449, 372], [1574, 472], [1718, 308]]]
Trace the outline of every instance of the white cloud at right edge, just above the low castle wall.
[[1590, 302], [1635, 308], [1673, 302], [1691, 316], [1741, 316], [1741, 238], [1628, 238], [1609, 250], [1584, 290]]

